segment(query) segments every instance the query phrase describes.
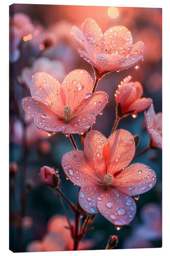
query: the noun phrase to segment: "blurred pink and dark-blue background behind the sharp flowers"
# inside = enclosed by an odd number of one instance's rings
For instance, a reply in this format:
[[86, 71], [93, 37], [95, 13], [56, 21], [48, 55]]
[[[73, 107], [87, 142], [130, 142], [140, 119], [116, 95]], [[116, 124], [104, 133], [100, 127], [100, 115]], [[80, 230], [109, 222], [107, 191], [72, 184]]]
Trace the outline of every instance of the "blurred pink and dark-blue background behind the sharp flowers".
[[[16, 16], [17, 13], [22, 15]], [[141, 40], [145, 45], [144, 59], [139, 67], [112, 72], [99, 82], [98, 90], [108, 93], [109, 103], [103, 115], [96, 118], [93, 129], [106, 137], [110, 135], [115, 120], [114, 93], [120, 81], [128, 75], [132, 76], [132, 81], [141, 82], [143, 96], [153, 99], [155, 111], [162, 111], [161, 9], [10, 6], [10, 250], [15, 252], [26, 251], [31, 241], [42, 240], [49, 219], [63, 214], [54, 191], [40, 182], [41, 166], [59, 169], [62, 191], [77, 203], [78, 187], [66, 180], [61, 166], [62, 156], [72, 150], [69, 139], [64, 134], [51, 135], [38, 130], [33, 119], [23, 113], [21, 99], [30, 96], [31, 76], [37, 71], [50, 73], [62, 82], [70, 71], [85, 69], [94, 79], [92, 67], [79, 56], [76, 41], [70, 33], [73, 25], [81, 28], [87, 17], [95, 19], [103, 32], [115, 25], [125, 26], [132, 33], [133, 44]], [[148, 145], [143, 113], [135, 119], [131, 116], [124, 118], [119, 122], [120, 127], [140, 136], [137, 152]], [[74, 138], [81, 149], [80, 136]], [[85, 236], [91, 240], [87, 249], [104, 249], [110, 234], [118, 236], [116, 249], [161, 247], [162, 154], [159, 150], [151, 150], [135, 161], [155, 170], [156, 185], [136, 201], [134, 220], [120, 231], [102, 215], [96, 215], [92, 225], [94, 230]], [[67, 210], [74, 218], [74, 212]], [[22, 239], [18, 240], [18, 237]]]

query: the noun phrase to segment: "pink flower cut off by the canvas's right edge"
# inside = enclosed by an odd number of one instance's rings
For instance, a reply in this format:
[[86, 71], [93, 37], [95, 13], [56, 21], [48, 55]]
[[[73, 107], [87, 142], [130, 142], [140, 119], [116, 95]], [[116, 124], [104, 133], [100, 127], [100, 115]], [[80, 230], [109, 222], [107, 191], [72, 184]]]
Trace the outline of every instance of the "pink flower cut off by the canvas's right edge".
[[162, 113], [155, 114], [153, 104], [144, 112], [144, 119], [151, 138], [151, 146], [162, 150]]

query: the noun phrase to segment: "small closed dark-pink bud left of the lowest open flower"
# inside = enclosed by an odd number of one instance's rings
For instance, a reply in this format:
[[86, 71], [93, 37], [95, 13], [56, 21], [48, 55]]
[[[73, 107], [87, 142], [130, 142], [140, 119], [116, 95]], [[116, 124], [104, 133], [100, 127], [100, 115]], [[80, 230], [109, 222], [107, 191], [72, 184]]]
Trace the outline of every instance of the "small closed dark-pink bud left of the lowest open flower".
[[60, 184], [59, 175], [55, 172], [54, 168], [42, 166], [40, 168], [41, 182], [51, 187], [56, 187]]

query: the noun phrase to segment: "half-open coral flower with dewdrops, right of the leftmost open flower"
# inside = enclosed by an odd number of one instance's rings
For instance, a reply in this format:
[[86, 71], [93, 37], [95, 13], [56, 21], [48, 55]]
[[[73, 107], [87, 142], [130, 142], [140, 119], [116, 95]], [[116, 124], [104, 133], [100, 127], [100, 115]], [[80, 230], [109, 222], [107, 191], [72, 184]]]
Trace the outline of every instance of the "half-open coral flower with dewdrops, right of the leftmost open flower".
[[141, 98], [143, 88], [140, 82], [130, 82], [131, 76], [124, 78], [115, 93], [116, 103], [120, 103], [123, 113], [132, 111], [134, 113], [147, 110], [151, 103], [151, 98]]

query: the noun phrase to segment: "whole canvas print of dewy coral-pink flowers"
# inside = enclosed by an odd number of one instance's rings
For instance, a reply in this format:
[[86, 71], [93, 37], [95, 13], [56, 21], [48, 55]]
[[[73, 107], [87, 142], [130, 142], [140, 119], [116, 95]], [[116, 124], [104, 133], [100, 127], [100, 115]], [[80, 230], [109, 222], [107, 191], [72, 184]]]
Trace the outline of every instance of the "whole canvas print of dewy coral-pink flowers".
[[9, 248], [162, 246], [162, 10], [9, 7]]

